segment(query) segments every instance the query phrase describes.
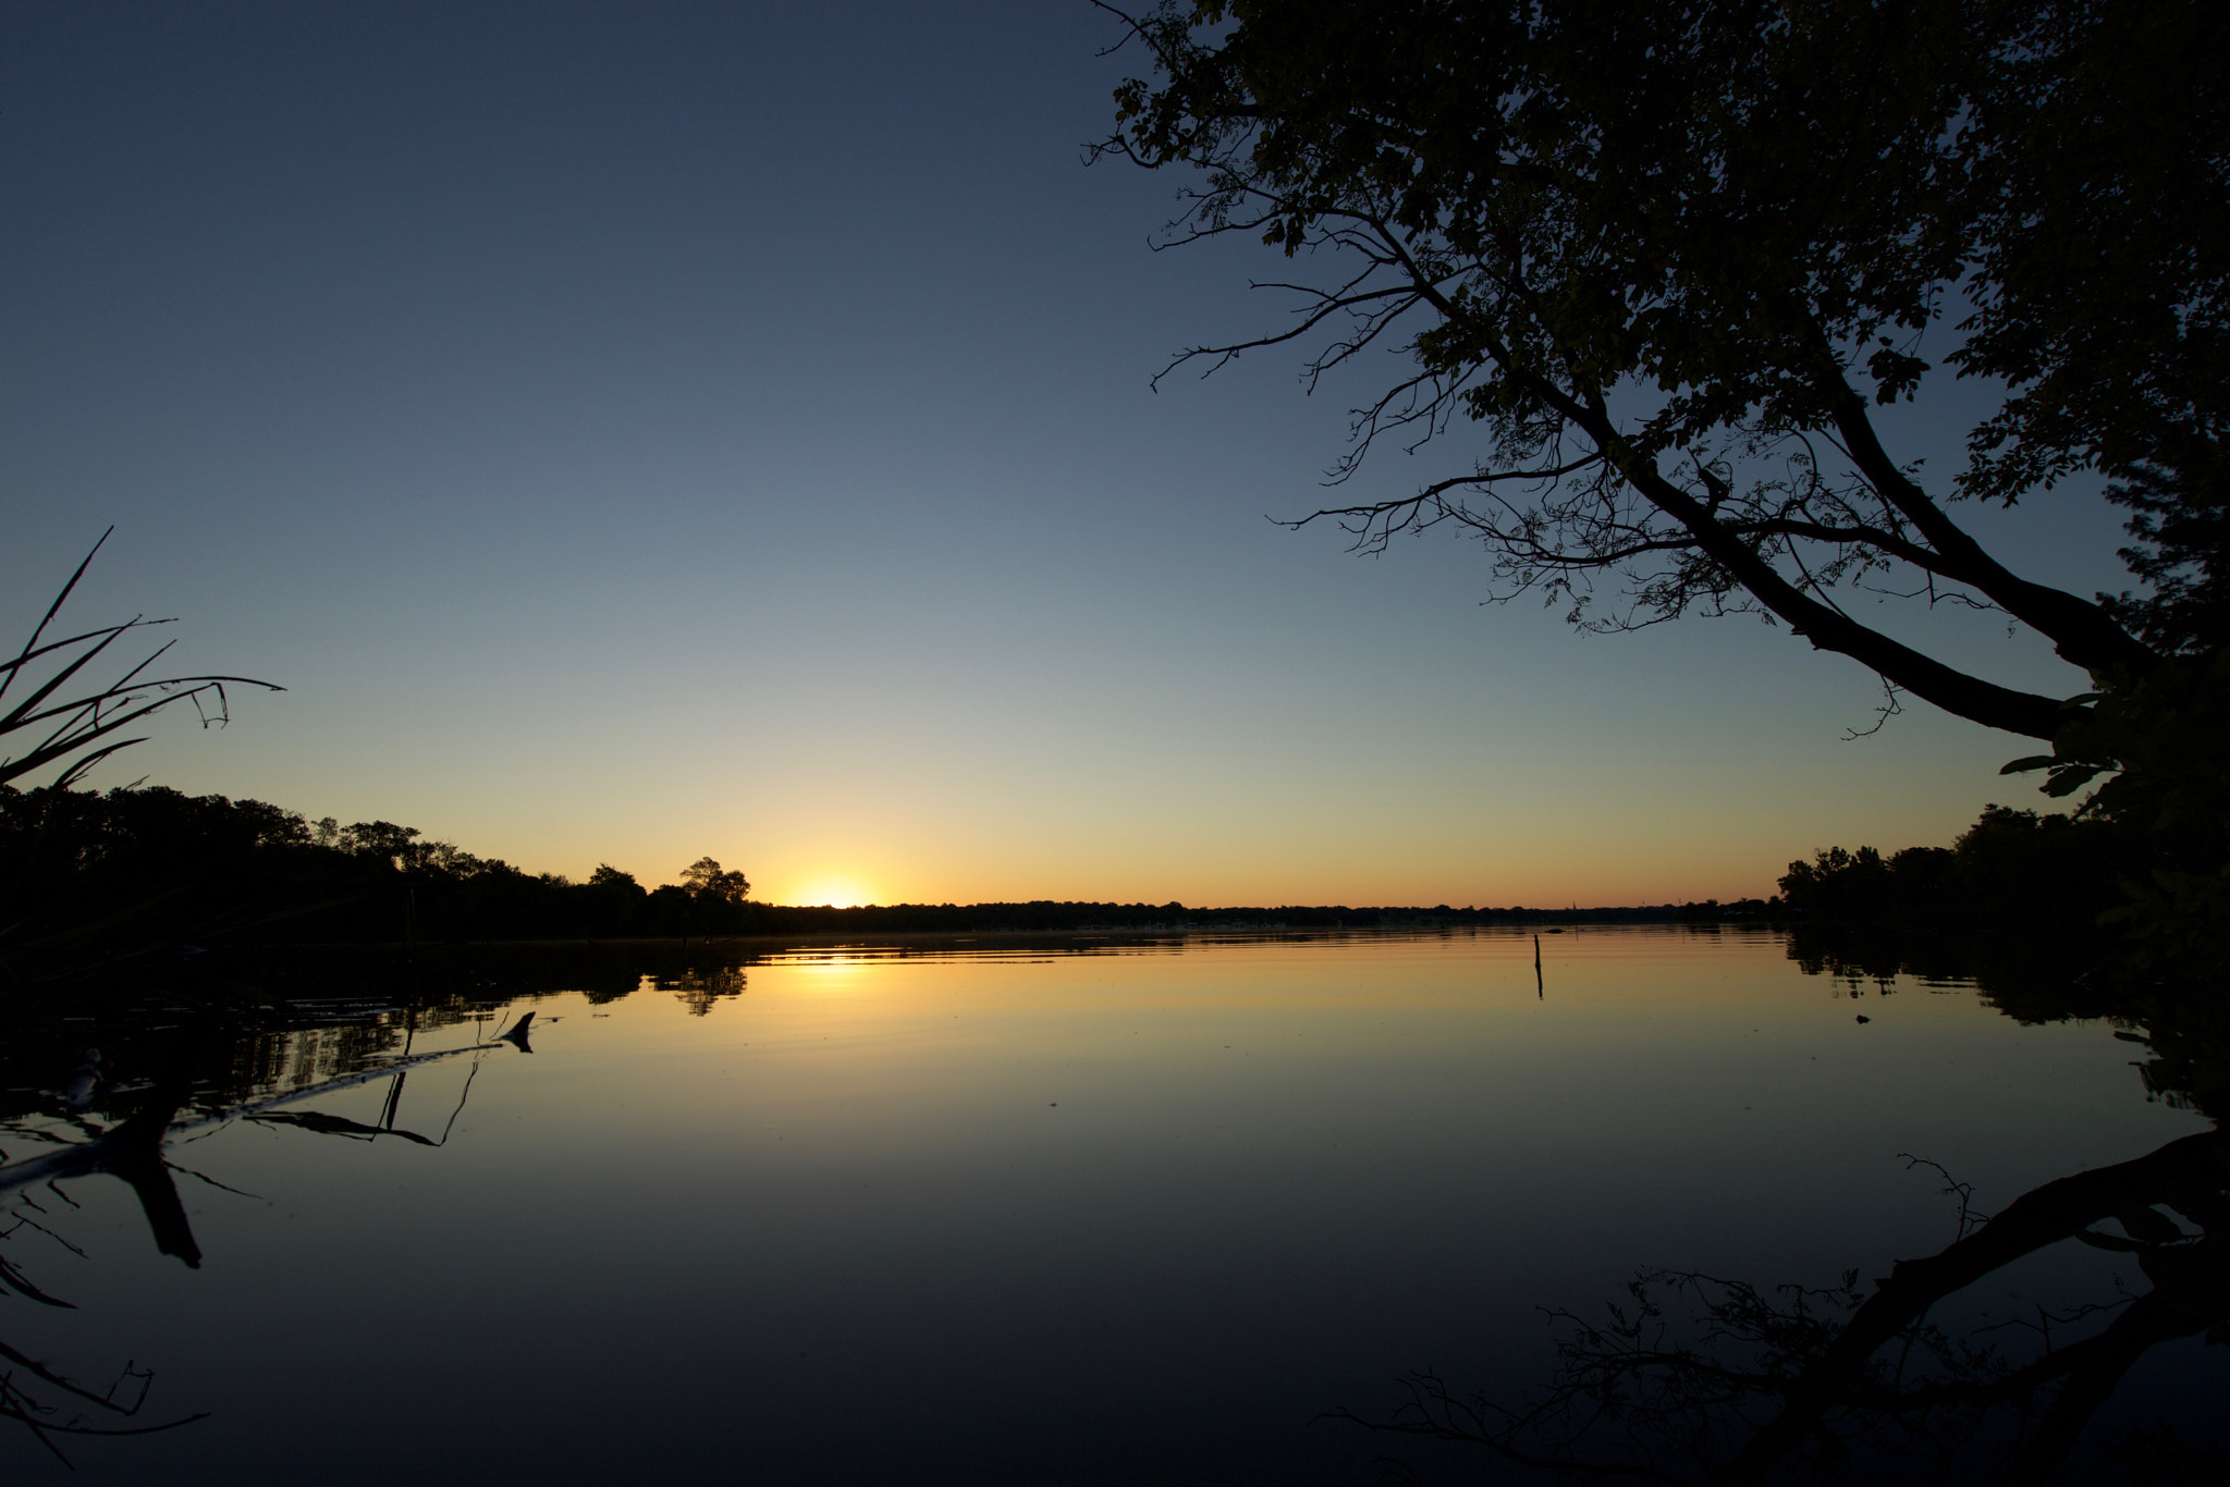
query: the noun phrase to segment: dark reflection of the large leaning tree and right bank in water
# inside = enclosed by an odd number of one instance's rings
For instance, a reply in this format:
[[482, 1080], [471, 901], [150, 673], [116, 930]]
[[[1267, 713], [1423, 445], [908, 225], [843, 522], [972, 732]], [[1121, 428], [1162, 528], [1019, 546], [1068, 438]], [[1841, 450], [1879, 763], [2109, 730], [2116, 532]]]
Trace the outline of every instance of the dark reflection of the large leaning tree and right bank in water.
[[[1791, 939], [1809, 974], [1858, 994], [1900, 974], [1974, 976], [2020, 1021], [2096, 1017], [2141, 1043], [2147, 1099], [2217, 1121], [2226, 1112], [2230, 1012], [2219, 997], [2168, 988], [2101, 990], [2047, 956], [1958, 959], [1956, 947]], [[1933, 1164], [1927, 1164], [1933, 1166]], [[1942, 1170], [1942, 1168], [1938, 1168]], [[1996, 1217], [1960, 1202], [1958, 1240], [1860, 1284], [1757, 1286], [1684, 1271], [1628, 1284], [1601, 1320], [1559, 1311], [1550, 1382], [1521, 1405], [1461, 1396], [1441, 1378], [1409, 1380], [1409, 1405], [1378, 1431], [1485, 1447], [1505, 1462], [1568, 1480], [1759, 1483], [1871, 1474], [1902, 1462], [1931, 1480], [2043, 1483], [2067, 1465], [2085, 1427], [2152, 1349], [2183, 1338], [2230, 1342], [2230, 1130], [2181, 1137], [2116, 1166], [2034, 1188]], [[2101, 1277], [2101, 1295], [2014, 1322], [1953, 1329], [1931, 1320], [1974, 1306], [1980, 1282], [2058, 1244], [2134, 1262]], [[2150, 1286], [2150, 1289], [2147, 1289]], [[1356, 1416], [1345, 1418], [1356, 1420]], [[2139, 1483], [2230, 1480], [2230, 1456], [2170, 1425], [2125, 1431], [2103, 1449]]]

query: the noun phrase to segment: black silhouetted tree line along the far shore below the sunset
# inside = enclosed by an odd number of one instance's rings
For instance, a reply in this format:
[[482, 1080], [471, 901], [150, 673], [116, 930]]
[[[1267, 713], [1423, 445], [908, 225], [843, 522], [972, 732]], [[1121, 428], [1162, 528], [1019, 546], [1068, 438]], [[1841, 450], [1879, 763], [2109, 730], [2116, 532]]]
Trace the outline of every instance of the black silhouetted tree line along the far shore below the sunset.
[[1184, 903], [774, 905], [705, 856], [647, 890], [600, 865], [531, 874], [388, 820], [308, 820], [263, 800], [167, 787], [0, 787], [0, 963], [45, 952], [214, 943], [466, 943], [734, 934], [1155, 932], [1519, 923], [1804, 921], [2092, 927], [2143, 872], [2145, 840], [2096, 816], [1991, 805], [1951, 847], [1826, 847], [1771, 901], [1639, 907]]

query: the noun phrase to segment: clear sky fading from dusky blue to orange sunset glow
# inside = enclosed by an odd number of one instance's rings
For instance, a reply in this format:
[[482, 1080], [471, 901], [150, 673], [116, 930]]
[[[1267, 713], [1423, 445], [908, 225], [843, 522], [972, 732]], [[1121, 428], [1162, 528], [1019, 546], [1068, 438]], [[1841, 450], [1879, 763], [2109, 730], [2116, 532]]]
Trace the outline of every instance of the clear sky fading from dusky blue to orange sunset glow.
[[[1273, 517], [1365, 383], [1184, 346], [1282, 314], [1086, 167], [1084, 0], [0, 11], [0, 624], [176, 615], [94, 774], [395, 820], [531, 872], [714, 856], [778, 903], [1615, 905], [1947, 845], [2020, 738], [1755, 620], [1590, 638], [1485, 555]], [[1380, 375], [1389, 368], [1367, 368]], [[1985, 392], [1891, 417], [1958, 468]], [[2121, 589], [2094, 488], [1960, 517]], [[1998, 682], [2000, 618], [1880, 620]]]

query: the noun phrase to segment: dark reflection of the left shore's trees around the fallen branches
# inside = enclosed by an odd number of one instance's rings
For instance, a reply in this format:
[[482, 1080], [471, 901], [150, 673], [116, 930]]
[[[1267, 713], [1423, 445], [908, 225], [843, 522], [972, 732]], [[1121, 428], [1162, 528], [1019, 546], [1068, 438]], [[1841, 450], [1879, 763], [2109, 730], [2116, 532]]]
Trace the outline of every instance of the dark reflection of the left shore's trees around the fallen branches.
[[[676, 974], [660, 956], [660, 974], [644, 976], [642, 954], [537, 947], [395, 961], [366, 952], [270, 963], [205, 956], [167, 968], [167, 983], [149, 974], [149, 990], [96, 1001], [98, 1019], [74, 1017], [83, 1003], [9, 1008], [11, 1026], [0, 1037], [0, 1295], [74, 1309], [42, 1284], [42, 1262], [22, 1246], [51, 1244], [54, 1255], [83, 1262], [85, 1251], [67, 1237], [76, 1208], [69, 1188], [94, 1177], [132, 1186], [156, 1248], [198, 1269], [201, 1246], [176, 1184], [225, 1184], [172, 1155], [223, 1121], [444, 1146], [471, 1099], [479, 1057], [495, 1048], [531, 1052], [533, 1012], [506, 1014], [522, 997], [580, 990], [613, 1001], [631, 990], [667, 990], [705, 1014], [745, 990], [745, 965]], [[497, 1032], [506, 1021], [508, 1032]], [[468, 1023], [482, 1030], [464, 1048], [421, 1052], [430, 1034]], [[424, 1108], [424, 1086], [410, 1083], [415, 1070], [459, 1054], [473, 1068], [455, 1104], [442, 1097]], [[306, 1108], [359, 1083], [384, 1086], [377, 1119]], [[421, 1101], [419, 1128], [404, 1117], [406, 1090]], [[74, 1436], [138, 1436], [203, 1418], [149, 1420], [152, 1384], [154, 1371], [136, 1364], [105, 1384], [85, 1382], [0, 1342], [0, 1418], [25, 1425], [65, 1460]]]

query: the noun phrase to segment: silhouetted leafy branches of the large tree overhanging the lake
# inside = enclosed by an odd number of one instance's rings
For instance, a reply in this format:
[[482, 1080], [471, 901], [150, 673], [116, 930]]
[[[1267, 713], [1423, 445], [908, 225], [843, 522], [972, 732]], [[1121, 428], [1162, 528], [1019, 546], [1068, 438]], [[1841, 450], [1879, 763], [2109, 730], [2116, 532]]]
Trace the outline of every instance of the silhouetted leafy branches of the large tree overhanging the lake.
[[[2172, 647], [2139, 602], [2016, 575], [1949, 499], [2105, 470], [2170, 502], [2139, 506], [2165, 564], [2143, 577], [2219, 546], [2183, 522], [2230, 468], [2219, 7], [1166, 0], [1126, 25], [1155, 78], [1124, 82], [1099, 152], [1198, 172], [1171, 241], [1325, 265], [1273, 285], [1287, 328], [1180, 363], [1296, 343], [1313, 388], [1398, 352], [1336, 482], [1383, 439], [1483, 435], [1412, 495], [1316, 517], [1367, 546], [1470, 531], [1496, 597], [1581, 626], [1759, 613], [2032, 738], [2058, 698], [1838, 593], [2003, 611], [2094, 673]], [[1942, 368], [2007, 395], [1929, 484], [1878, 410]]]

